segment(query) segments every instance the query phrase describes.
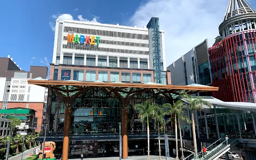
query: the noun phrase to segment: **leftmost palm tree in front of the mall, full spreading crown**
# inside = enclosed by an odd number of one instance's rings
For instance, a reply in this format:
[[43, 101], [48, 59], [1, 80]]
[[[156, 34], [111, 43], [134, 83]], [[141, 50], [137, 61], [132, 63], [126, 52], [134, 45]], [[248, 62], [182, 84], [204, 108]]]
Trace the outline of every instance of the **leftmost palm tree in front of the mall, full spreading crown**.
[[134, 110], [139, 111], [139, 117], [141, 119], [141, 123], [144, 121], [147, 121], [147, 135], [148, 135], [148, 160], [150, 159], [149, 157], [149, 122], [148, 119], [151, 117], [156, 116], [156, 108], [159, 106], [154, 105], [150, 101], [146, 101], [144, 104], [136, 104], [134, 105]]

